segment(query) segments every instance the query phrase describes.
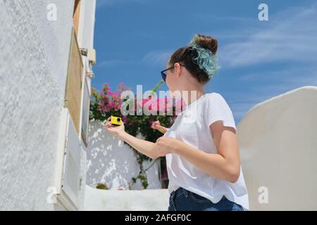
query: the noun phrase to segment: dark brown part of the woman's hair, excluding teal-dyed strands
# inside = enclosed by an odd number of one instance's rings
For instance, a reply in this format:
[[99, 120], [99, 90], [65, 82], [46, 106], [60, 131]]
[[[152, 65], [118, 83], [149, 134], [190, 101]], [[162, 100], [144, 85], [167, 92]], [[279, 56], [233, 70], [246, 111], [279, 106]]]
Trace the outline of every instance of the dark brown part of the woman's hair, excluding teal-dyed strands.
[[[218, 49], [218, 41], [211, 37], [201, 34], [195, 34], [194, 38], [190, 42], [191, 44], [196, 44], [204, 49], [209, 49], [213, 54], [216, 54]], [[193, 58], [197, 57], [197, 51], [192, 49], [192, 46], [183, 46], [176, 50], [172, 56], [170, 56], [170, 65], [174, 63], [182, 63], [186, 66], [187, 70], [195, 77], [201, 84], [206, 84], [209, 82], [209, 75], [199, 68], [199, 65]]]

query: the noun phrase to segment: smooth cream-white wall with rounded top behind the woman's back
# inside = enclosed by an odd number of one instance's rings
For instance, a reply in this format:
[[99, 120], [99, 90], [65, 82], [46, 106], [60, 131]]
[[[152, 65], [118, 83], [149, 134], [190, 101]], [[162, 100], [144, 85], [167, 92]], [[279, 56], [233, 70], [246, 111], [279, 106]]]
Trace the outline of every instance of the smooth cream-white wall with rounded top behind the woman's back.
[[317, 86], [304, 86], [255, 105], [237, 125], [250, 210], [317, 210], [316, 115]]

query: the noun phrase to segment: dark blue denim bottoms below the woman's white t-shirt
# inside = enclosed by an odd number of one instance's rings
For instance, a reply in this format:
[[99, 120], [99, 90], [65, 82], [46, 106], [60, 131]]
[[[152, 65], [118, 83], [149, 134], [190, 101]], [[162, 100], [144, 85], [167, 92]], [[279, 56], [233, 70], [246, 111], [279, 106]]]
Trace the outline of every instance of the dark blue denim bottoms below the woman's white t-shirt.
[[170, 193], [170, 205], [168, 211], [244, 211], [243, 207], [228, 198], [221, 198], [218, 203], [197, 195], [185, 188], [178, 188]]

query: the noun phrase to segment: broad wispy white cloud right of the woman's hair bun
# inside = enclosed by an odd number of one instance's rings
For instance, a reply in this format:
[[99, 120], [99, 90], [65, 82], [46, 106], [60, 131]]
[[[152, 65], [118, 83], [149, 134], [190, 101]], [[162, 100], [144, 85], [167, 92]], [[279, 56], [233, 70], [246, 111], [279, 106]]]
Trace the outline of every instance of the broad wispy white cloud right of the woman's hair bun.
[[[225, 45], [220, 52], [223, 65], [239, 67], [276, 61], [316, 61], [316, 6], [290, 8], [270, 16], [262, 29], [246, 28], [244, 39]], [[241, 32], [241, 31], [239, 31]]]

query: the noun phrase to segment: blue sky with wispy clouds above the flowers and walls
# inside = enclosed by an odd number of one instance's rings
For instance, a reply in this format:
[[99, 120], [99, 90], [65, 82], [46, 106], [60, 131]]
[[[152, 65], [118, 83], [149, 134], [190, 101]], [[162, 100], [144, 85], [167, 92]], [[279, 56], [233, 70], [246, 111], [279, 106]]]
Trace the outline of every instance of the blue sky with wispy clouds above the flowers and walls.
[[[261, 3], [268, 21], [258, 19]], [[218, 39], [221, 68], [205, 91], [225, 98], [236, 124], [261, 101], [317, 86], [317, 4], [309, 0], [97, 0], [92, 86], [152, 89], [170, 54], [196, 33]]]

